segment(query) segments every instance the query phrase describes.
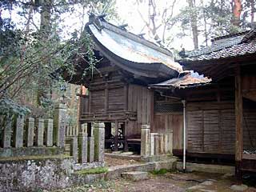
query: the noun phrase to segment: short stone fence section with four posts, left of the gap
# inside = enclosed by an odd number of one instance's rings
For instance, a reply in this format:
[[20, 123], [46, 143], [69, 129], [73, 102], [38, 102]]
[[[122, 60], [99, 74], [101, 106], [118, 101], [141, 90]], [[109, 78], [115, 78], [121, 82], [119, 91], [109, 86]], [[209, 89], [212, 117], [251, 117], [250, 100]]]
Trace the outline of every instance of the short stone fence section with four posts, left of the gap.
[[[86, 126], [83, 125], [83, 126]], [[86, 164], [90, 162], [104, 163], [105, 125], [104, 123], [92, 123], [90, 137], [87, 127], [82, 129], [77, 136], [71, 138], [70, 155], [74, 162]]]

